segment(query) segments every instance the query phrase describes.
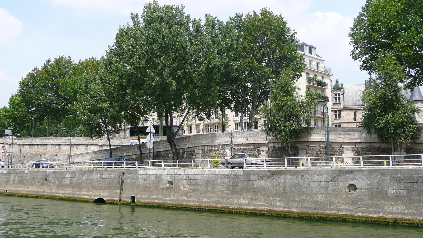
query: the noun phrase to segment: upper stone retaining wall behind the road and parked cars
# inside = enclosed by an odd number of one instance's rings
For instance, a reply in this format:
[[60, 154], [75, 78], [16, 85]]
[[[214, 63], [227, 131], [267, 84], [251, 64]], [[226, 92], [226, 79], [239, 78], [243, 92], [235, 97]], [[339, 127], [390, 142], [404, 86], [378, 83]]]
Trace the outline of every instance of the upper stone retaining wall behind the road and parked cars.
[[[326, 128], [313, 127], [309, 133], [292, 141], [290, 148], [274, 138], [267, 138], [263, 130], [233, 133], [234, 153], [255, 153], [261, 158], [280, 157], [315, 157], [326, 156]], [[217, 154], [220, 159], [228, 158], [229, 133], [205, 133], [177, 137], [175, 142], [180, 159], [212, 159]], [[330, 155], [390, 155], [389, 144], [381, 144], [375, 135], [369, 135], [363, 127], [331, 127]], [[8, 139], [10, 143], [11, 138]], [[137, 145], [128, 146], [130, 137], [112, 137], [113, 156], [139, 160]], [[172, 153], [165, 138], [157, 138], [154, 145], [156, 160], [172, 159]], [[15, 138], [14, 161], [17, 161], [19, 148], [22, 150], [22, 162], [47, 159], [49, 161], [69, 160], [69, 138]], [[152, 158], [152, 149], [141, 144], [143, 159]], [[423, 154], [423, 140], [415, 143], [398, 145], [395, 154]], [[89, 139], [72, 138], [72, 161], [98, 161], [110, 157], [107, 138]], [[386, 159], [386, 157], [385, 157]]]

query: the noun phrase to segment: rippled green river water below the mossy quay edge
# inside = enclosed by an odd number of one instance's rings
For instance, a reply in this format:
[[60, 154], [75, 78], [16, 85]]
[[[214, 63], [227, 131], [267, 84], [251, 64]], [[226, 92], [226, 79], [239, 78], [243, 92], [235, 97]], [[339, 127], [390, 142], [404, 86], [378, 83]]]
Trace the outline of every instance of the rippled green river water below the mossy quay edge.
[[423, 238], [423, 228], [0, 196], [0, 238]]

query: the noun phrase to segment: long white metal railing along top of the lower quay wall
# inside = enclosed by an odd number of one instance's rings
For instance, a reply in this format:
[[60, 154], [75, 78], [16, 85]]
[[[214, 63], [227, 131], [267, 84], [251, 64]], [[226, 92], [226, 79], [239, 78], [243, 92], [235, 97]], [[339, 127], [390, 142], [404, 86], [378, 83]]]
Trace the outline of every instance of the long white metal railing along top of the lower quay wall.
[[[239, 159], [237, 163], [225, 163], [223, 160], [150, 160], [150, 161], [76, 161], [49, 163], [5, 163], [0, 169], [224, 169], [244, 168], [311, 168], [311, 167], [363, 167], [363, 166], [423, 166], [423, 154], [416, 155], [356, 155], [324, 157], [281, 157], [260, 158], [261, 163], [250, 163], [250, 159]], [[264, 163], [266, 162], [266, 163]]]

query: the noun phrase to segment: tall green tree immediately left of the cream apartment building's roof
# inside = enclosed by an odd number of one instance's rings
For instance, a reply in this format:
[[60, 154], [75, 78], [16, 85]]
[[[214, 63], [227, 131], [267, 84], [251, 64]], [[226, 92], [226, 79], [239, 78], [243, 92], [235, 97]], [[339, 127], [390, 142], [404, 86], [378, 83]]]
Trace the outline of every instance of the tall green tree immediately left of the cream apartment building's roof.
[[295, 32], [282, 15], [268, 8], [245, 17], [236, 14], [231, 22], [238, 38], [234, 49], [238, 80], [233, 97], [250, 113], [250, 130], [258, 108], [269, 99], [272, 83], [280, 77], [298, 79], [304, 72], [304, 58], [297, 53]]

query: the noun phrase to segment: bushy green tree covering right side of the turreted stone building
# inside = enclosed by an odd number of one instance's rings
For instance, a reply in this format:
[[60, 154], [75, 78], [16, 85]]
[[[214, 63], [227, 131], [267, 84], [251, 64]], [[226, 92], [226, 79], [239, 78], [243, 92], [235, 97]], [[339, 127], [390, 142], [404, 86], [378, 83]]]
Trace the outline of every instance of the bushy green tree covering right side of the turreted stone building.
[[404, 66], [396, 62], [393, 55], [379, 53], [371, 63], [377, 72], [374, 86], [363, 93], [363, 118], [361, 125], [368, 133], [376, 134], [384, 143], [398, 146], [414, 141], [420, 136], [415, 113], [418, 108], [401, 94], [400, 83], [404, 82]]

